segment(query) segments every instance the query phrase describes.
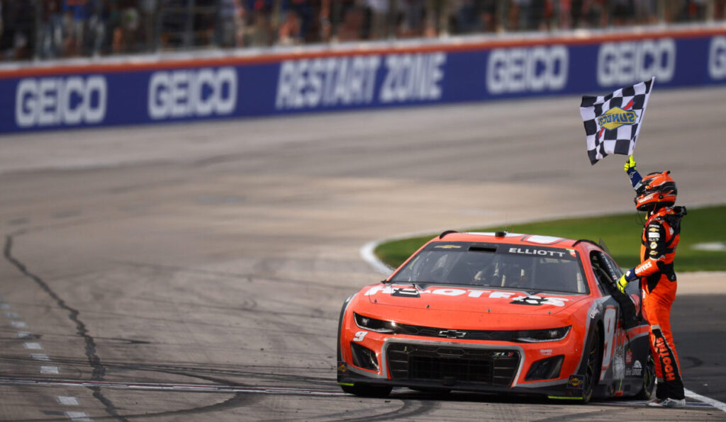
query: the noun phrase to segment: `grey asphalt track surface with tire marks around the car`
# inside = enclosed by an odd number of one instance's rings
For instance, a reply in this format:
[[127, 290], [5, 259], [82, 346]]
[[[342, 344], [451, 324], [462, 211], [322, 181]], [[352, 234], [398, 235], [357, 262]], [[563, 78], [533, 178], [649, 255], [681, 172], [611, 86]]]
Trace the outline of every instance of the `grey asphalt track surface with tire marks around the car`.
[[[639, 168], [672, 170], [682, 204], [726, 198], [724, 98], [650, 99]], [[623, 158], [588, 162], [578, 105], [0, 138], [0, 420], [725, 420], [723, 273], [680, 274], [672, 315], [685, 385], [716, 407], [335, 384], [340, 305], [382, 277], [367, 242], [632, 210]]]

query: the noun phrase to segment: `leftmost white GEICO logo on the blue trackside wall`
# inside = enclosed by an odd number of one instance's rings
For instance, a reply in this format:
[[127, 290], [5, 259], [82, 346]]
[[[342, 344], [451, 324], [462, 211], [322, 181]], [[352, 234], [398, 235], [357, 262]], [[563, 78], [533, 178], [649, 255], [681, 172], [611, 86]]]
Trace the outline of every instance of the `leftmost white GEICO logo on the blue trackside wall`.
[[15, 123], [20, 128], [102, 123], [107, 93], [102, 75], [25, 78], [15, 90]]

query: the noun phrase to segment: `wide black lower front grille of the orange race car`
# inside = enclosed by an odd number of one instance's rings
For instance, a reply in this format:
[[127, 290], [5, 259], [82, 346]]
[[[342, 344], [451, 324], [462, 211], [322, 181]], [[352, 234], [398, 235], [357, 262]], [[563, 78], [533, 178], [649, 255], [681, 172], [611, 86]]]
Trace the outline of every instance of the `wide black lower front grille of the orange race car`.
[[386, 351], [391, 378], [441, 381], [445, 385], [466, 381], [509, 386], [520, 359], [513, 349], [456, 345], [391, 343]]

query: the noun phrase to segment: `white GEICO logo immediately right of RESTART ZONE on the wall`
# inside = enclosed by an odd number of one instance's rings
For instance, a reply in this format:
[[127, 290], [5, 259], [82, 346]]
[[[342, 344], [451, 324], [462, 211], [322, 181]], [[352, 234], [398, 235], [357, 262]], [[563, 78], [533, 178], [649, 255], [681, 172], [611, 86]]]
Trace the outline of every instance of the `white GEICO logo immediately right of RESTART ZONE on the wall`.
[[565, 46], [494, 49], [486, 62], [489, 94], [560, 91], [567, 84], [569, 53]]

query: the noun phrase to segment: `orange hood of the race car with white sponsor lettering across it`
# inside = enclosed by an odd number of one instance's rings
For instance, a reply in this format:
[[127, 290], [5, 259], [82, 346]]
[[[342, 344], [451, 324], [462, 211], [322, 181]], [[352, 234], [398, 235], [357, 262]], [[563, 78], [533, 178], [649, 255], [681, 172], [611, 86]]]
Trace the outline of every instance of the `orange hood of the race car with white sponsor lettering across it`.
[[584, 294], [464, 286], [428, 285], [423, 288], [411, 284], [378, 284], [364, 289], [364, 295], [375, 305], [490, 315], [554, 315], [588, 297]]

